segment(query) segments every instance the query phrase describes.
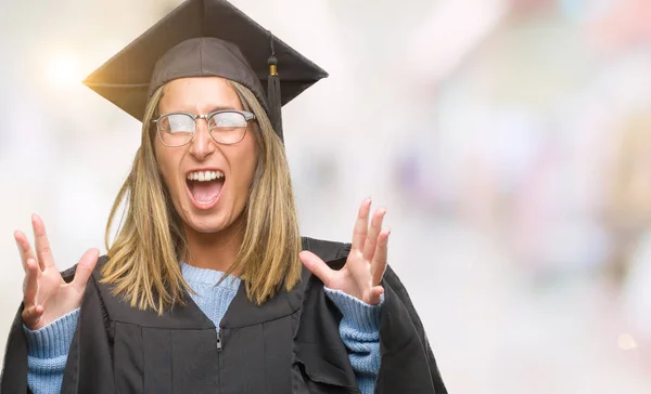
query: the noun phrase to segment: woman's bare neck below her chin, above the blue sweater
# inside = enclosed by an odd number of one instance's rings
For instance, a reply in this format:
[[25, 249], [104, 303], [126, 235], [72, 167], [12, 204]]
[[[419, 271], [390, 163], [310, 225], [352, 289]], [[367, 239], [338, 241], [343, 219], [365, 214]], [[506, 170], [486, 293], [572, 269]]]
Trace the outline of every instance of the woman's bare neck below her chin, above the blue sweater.
[[[188, 241], [187, 263], [197, 268], [226, 272], [235, 262], [244, 240], [242, 215], [218, 233], [200, 233], [184, 225]], [[232, 273], [237, 276], [237, 273]]]

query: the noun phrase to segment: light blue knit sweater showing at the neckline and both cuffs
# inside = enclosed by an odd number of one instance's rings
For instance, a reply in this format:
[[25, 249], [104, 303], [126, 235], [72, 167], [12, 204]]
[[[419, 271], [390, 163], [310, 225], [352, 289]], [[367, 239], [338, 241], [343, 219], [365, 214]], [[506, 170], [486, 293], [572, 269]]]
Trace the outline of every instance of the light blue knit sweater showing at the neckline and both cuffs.
[[[219, 321], [234, 299], [240, 279], [230, 276], [219, 286], [224, 273], [182, 265], [183, 277], [196, 292], [192, 300], [219, 330]], [[342, 312], [340, 334], [350, 350], [349, 359], [355, 370], [357, 385], [363, 394], [371, 394], [380, 370], [380, 311], [379, 305], [368, 305], [343, 291], [326, 288], [326, 294]], [[27, 383], [34, 394], [59, 393], [67, 354], [77, 328], [79, 310], [52, 321], [38, 330], [24, 327], [27, 334]]]

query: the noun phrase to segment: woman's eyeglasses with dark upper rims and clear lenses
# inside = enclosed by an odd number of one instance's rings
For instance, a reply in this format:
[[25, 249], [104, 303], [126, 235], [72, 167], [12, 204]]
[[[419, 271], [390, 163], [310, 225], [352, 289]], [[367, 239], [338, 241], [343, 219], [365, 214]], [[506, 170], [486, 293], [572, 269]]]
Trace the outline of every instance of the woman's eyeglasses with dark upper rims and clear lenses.
[[161, 115], [152, 122], [156, 123], [156, 133], [163, 145], [183, 146], [194, 137], [196, 119], [205, 119], [208, 122], [208, 132], [216, 142], [232, 145], [244, 139], [248, 121], [255, 119], [255, 115], [235, 109], [216, 110], [208, 115], [169, 113]]

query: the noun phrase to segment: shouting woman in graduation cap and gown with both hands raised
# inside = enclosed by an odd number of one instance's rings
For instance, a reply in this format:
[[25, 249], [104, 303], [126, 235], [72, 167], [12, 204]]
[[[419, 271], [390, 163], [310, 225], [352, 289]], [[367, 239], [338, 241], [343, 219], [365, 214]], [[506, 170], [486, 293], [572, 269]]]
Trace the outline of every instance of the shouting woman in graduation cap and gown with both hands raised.
[[16, 233], [2, 393], [446, 392], [386, 267], [385, 210], [369, 227], [365, 200], [350, 245], [301, 238], [280, 106], [324, 73], [269, 40], [227, 2], [189, 0], [89, 77], [143, 122], [107, 233], [128, 209], [107, 254], [63, 274], [38, 216], [36, 252]]

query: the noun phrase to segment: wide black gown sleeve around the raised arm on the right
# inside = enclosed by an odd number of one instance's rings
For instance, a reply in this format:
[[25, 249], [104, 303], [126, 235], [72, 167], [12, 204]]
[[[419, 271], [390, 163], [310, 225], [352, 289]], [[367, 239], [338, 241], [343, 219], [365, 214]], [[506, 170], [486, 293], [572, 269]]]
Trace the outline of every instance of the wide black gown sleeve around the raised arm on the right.
[[[350, 252], [350, 244], [304, 238], [304, 249], [319, 255], [332, 270], [341, 270]], [[357, 392], [357, 379], [348, 357], [350, 351], [340, 334], [344, 316], [324, 294], [320, 279], [305, 275], [302, 315], [294, 340], [299, 366], [312, 381]], [[421, 319], [391, 265], [386, 267], [382, 286], [380, 367], [374, 393], [447, 394]]]

